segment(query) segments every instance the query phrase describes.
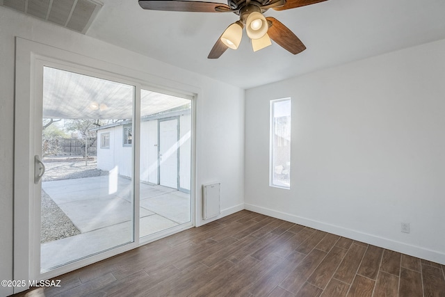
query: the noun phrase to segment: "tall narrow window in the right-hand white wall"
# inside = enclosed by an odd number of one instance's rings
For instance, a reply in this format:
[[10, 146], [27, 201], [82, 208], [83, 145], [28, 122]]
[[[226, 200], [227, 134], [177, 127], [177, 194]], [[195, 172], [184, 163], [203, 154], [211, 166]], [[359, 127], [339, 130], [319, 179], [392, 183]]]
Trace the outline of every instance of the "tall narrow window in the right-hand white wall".
[[291, 185], [291, 99], [270, 101], [270, 186]]

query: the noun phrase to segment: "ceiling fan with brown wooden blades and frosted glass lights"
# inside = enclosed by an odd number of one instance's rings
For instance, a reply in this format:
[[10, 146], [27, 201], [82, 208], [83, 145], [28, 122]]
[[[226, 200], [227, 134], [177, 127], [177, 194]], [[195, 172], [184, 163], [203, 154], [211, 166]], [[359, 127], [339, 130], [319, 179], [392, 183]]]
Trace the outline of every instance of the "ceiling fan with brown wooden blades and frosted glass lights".
[[243, 29], [252, 40], [254, 51], [272, 44], [296, 55], [306, 49], [305, 45], [289, 28], [274, 17], [264, 17], [269, 8], [286, 10], [307, 6], [327, 0], [227, 0], [227, 4], [186, 0], [139, 0], [140, 7], [148, 10], [186, 11], [198, 13], [235, 13], [239, 20], [225, 29], [207, 58], [219, 58], [226, 49], [237, 49]]

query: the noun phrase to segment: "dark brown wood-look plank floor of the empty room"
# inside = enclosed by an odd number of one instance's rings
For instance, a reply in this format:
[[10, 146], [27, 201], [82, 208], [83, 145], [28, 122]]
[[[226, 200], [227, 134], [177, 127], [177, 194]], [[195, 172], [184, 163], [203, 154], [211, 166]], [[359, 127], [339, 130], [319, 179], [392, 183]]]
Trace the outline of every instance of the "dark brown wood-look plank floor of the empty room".
[[239, 211], [17, 296], [445, 296], [445, 266]]

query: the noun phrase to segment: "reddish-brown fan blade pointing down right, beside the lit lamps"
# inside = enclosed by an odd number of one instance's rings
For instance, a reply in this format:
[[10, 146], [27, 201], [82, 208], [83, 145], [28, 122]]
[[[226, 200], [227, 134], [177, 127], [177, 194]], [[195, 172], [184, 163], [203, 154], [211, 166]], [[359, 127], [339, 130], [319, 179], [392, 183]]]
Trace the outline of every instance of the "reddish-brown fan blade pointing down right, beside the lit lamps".
[[284, 26], [275, 17], [266, 17], [269, 23], [269, 30], [267, 31], [270, 39], [277, 42], [286, 51], [290, 51], [292, 54], [296, 55], [306, 49], [303, 42], [291, 31], [289, 28]]

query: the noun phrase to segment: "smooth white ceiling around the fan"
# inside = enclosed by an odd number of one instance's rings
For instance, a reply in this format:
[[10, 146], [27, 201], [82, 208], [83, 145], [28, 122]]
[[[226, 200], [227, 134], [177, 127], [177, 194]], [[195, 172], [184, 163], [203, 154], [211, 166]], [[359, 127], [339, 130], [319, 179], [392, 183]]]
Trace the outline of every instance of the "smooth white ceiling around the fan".
[[264, 15], [307, 49], [293, 56], [273, 42], [253, 52], [244, 32], [238, 50], [209, 60], [237, 15], [143, 10], [136, 0], [104, 0], [86, 35], [241, 88], [445, 38], [445, 0], [329, 0]]

